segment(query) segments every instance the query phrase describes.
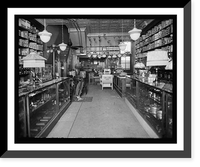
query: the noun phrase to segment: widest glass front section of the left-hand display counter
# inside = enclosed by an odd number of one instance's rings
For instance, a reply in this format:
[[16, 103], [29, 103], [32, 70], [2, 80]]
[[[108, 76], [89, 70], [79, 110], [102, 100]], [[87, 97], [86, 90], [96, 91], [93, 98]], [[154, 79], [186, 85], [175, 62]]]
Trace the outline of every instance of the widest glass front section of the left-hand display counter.
[[57, 113], [56, 84], [29, 94], [30, 137], [35, 137]]

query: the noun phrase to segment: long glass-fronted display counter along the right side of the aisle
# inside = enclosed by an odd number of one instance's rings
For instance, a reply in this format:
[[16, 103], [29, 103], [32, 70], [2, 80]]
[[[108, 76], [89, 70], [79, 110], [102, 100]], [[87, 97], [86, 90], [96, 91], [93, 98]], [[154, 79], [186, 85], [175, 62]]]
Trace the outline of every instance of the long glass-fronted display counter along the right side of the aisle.
[[171, 83], [149, 84], [146, 78], [131, 79], [126, 98], [160, 138], [173, 136], [173, 91]]

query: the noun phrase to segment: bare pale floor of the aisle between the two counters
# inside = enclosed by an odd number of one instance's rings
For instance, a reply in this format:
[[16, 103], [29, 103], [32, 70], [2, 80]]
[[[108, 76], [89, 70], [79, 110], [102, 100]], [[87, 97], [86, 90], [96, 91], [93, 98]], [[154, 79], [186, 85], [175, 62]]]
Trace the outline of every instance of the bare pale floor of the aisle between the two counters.
[[92, 102], [73, 102], [48, 138], [149, 138], [115, 90], [89, 85]]

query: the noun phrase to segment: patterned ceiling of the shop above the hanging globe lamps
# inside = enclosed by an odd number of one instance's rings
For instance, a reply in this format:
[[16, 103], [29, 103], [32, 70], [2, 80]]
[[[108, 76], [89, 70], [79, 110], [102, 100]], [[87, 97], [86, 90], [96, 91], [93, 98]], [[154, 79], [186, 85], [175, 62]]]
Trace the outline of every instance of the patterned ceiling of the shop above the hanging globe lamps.
[[[44, 24], [43, 19], [36, 19]], [[85, 28], [89, 33], [127, 33], [134, 27], [133, 19], [45, 19], [46, 25], [65, 25], [68, 28]], [[137, 19], [136, 27], [144, 29], [153, 19]], [[123, 22], [123, 24], [122, 24]]]

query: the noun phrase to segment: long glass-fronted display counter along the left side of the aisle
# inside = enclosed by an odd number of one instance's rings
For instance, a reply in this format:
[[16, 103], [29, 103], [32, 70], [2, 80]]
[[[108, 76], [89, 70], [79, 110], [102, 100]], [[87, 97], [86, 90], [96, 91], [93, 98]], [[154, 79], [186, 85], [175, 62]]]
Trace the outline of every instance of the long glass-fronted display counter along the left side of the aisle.
[[70, 104], [70, 78], [19, 89], [18, 137], [46, 137]]

